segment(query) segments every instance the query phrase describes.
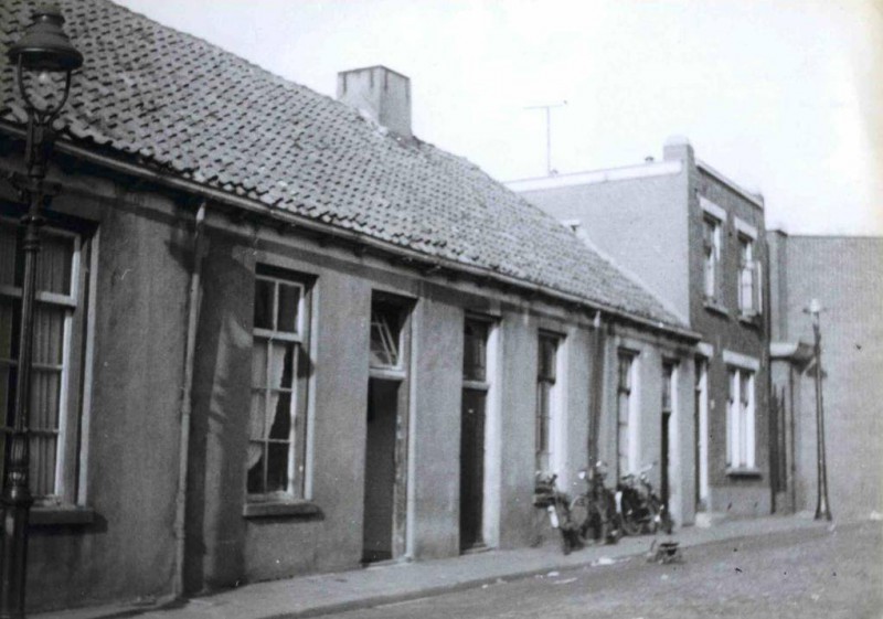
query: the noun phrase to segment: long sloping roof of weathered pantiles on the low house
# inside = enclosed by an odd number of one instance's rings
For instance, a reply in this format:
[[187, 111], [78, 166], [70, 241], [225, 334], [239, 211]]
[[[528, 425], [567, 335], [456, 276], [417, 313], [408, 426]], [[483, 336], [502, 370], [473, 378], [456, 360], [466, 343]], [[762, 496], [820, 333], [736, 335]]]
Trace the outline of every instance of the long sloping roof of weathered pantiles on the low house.
[[[85, 56], [64, 135], [267, 209], [683, 323], [574, 234], [466, 159], [106, 0], [63, 0]], [[6, 50], [32, 2], [0, 4], [0, 118], [24, 124]]]

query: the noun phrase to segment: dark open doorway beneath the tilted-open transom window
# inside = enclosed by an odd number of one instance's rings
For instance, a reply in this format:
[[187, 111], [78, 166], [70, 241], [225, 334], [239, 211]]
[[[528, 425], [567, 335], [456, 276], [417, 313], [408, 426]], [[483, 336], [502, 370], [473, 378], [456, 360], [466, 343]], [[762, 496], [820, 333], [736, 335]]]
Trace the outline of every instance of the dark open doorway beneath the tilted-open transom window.
[[362, 561], [393, 557], [396, 426], [401, 382], [370, 378]]

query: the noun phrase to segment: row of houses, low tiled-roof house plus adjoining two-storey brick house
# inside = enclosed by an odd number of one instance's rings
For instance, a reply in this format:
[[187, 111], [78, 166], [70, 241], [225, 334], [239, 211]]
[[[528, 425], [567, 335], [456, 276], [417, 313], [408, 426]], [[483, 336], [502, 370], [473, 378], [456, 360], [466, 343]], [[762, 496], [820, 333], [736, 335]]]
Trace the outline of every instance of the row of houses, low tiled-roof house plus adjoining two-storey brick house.
[[[31, 8], [0, 7], [2, 57]], [[575, 490], [595, 459], [652, 466], [681, 526], [780, 508], [763, 201], [688, 143], [507, 188], [413, 136], [389, 68], [332, 100], [107, 0], [62, 10], [86, 62], [38, 274], [31, 608], [526, 546], [536, 471]], [[3, 66], [8, 178], [25, 120]], [[7, 426], [22, 213], [0, 184]]]

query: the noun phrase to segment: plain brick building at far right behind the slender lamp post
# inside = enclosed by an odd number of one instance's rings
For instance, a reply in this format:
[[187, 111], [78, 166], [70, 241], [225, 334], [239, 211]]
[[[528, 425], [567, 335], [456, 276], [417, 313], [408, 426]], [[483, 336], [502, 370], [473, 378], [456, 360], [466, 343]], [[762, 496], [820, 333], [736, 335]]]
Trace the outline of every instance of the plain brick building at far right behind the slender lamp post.
[[883, 513], [883, 238], [767, 234], [777, 504], [813, 511], [816, 365], [811, 299], [822, 307], [828, 495], [836, 517]]

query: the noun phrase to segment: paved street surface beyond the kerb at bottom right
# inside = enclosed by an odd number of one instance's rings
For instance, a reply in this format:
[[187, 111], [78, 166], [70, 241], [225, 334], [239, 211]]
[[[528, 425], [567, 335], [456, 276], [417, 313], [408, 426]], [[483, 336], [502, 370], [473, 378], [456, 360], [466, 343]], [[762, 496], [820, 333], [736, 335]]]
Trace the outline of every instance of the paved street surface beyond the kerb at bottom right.
[[688, 548], [680, 564], [635, 557], [334, 617], [880, 618], [882, 533], [792, 531]]

